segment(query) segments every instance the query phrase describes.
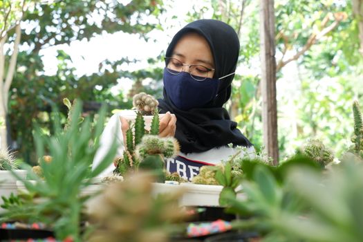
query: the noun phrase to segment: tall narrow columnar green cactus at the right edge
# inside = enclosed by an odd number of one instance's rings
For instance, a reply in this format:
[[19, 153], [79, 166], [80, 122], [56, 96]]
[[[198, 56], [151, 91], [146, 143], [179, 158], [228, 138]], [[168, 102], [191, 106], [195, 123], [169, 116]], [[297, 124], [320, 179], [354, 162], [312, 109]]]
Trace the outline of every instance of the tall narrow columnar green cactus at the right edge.
[[360, 105], [357, 100], [353, 102], [353, 116], [354, 116], [354, 134], [352, 142], [354, 143], [354, 153], [363, 158], [363, 121], [362, 113], [360, 112]]

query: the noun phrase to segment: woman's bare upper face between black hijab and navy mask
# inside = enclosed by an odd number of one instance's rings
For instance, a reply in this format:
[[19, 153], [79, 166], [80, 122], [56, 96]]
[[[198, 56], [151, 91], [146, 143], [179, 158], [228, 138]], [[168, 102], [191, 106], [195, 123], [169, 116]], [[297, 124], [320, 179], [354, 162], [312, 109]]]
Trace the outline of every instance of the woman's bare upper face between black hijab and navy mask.
[[[183, 64], [214, 68], [214, 60], [207, 40], [194, 32], [180, 38], [171, 57], [180, 60]], [[184, 66], [183, 70], [189, 72], [189, 67]], [[214, 71], [210, 71], [207, 77], [212, 78], [213, 75]]]

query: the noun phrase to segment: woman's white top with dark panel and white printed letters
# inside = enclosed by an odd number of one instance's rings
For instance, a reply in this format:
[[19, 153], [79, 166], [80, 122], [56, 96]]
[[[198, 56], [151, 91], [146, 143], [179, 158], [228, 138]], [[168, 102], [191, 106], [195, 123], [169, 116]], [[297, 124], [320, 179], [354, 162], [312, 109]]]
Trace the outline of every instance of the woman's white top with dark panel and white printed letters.
[[[106, 156], [106, 153], [109, 151], [114, 139], [115, 142], [118, 143], [116, 156], [122, 156], [124, 152], [124, 140], [120, 122], [120, 116], [122, 115], [122, 112], [115, 113], [106, 124], [106, 127], [100, 137], [100, 148], [97, 150], [93, 160], [93, 169], [100, 164], [102, 158]], [[221, 160], [228, 160], [228, 158], [233, 156], [236, 152], [235, 148], [226, 146], [213, 148], [201, 153], [179, 153], [176, 158], [169, 158], [166, 160], [166, 169], [170, 173], [176, 171], [182, 178], [192, 180], [192, 178], [199, 173], [199, 169], [203, 165], [218, 165]], [[249, 155], [253, 155], [254, 147], [249, 147], [247, 152]], [[240, 155], [244, 156], [244, 153], [241, 152]], [[111, 164], [102, 171], [100, 176], [110, 176], [114, 169], [115, 166]]]

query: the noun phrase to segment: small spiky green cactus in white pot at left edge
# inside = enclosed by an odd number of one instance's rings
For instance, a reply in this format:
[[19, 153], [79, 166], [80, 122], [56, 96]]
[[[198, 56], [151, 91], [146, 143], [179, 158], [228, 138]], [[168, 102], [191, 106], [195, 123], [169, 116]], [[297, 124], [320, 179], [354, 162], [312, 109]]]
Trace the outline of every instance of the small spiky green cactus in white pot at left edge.
[[[10, 194], [17, 194], [17, 180], [12, 175], [26, 177], [27, 171], [18, 169], [19, 162], [15, 160], [13, 153], [0, 149], [0, 196], [8, 197]], [[0, 203], [1, 205], [2, 203]], [[1, 210], [1, 209], [0, 209]]]

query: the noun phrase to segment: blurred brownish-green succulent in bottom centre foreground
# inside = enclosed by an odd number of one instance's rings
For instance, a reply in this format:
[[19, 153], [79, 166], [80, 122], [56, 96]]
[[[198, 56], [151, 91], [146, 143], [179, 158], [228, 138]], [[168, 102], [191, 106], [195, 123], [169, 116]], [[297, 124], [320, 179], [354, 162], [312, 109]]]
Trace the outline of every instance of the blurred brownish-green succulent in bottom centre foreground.
[[152, 176], [140, 172], [109, 185], [91, 211], [96, 230], [87, 241], [169, 241], [168, 232], [185, 218], [178, 207], [181, 194], [154, 197], [152, 181]]

